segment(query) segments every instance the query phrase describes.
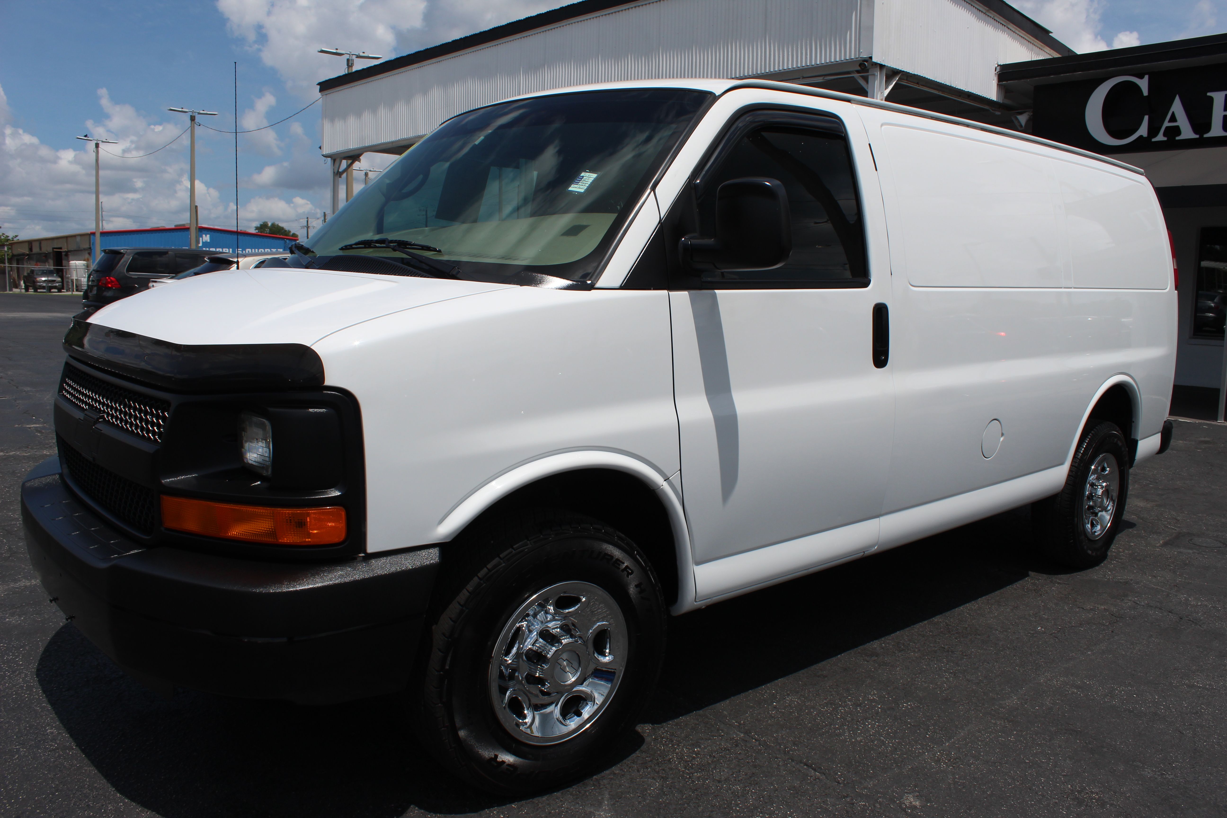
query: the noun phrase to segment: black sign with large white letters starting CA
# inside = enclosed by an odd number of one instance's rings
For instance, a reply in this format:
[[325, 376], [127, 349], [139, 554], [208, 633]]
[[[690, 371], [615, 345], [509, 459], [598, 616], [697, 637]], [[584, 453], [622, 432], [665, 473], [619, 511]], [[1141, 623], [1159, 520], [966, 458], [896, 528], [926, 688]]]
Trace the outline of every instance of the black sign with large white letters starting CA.
[[1227, 145], [1227, 65], [1036, 86], [1032, 132], [1096, 153]]

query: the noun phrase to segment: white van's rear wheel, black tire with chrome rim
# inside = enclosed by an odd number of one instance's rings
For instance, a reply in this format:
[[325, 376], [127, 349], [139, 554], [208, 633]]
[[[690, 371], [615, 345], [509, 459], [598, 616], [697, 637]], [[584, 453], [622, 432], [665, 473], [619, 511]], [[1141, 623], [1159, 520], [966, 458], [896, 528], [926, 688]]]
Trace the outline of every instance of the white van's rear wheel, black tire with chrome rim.
[[1091, 421], [1070, 462], [1060, 494], [1033, 503], [1032, 527], [1045, 556], [1070, 568], [1108, 557], [1129, 497], [1129, 448], [1120, 429]]

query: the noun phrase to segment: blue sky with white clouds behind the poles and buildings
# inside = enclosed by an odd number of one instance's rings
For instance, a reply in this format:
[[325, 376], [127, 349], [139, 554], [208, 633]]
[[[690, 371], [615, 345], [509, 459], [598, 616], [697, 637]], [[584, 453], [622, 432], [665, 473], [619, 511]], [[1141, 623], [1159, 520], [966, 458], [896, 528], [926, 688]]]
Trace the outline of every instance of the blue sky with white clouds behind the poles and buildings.
[[[1012, 4], [1076, 52], [1227, 31], [1227, 0]], [[239, 135], [239, 226], [270, 220], [302, 233], [306, 218], [314, 226], [329, 208], [330, 190], [319, 104], [293, 114], [318, 99], [317, 82], [345, 70], [344, 58], [319, 48], [398, 56], [562, 5], [0, 0], [0, 232], [36, 238], [93, 228], [92, 147], [75, 139], [85, 134], [118, 142], [101, 156], [107, 229], [187, 222], [188, 121], [167, 108], [213, 110], [201, 120], [236, 130], [237, 63], [239, 130], [291, 117]], [[368, 155], [362, 167], [391, 159]], [[198, 129], [196, 202], [202, 224], [234, 224], [233, 134]]]

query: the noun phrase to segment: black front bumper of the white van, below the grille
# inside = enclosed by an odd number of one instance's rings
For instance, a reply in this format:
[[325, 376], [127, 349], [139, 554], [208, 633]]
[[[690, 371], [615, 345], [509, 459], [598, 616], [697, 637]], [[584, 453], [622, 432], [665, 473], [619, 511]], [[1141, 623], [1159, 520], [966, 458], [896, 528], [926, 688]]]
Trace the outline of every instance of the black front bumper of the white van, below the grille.
[[145, 548], [69, 492], [56, 457], [22, 483], [21, 514], [52, 601], [152, 687], [328, 703], [409, 681], [438, 548], [326, 564]]

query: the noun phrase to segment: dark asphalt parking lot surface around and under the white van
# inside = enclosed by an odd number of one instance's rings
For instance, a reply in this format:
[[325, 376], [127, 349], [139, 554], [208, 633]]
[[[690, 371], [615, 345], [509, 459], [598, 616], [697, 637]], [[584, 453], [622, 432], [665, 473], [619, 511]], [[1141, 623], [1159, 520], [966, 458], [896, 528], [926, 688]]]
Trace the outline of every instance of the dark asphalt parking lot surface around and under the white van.
[[79, 298], [0, 294], [0, 814], [1227, 813], [1227, 427], [1177, 422], [1098, 568], [1033, 556], [1020, 509], [674, 621], [609, 766], [496, 801], [395, 698], [164, 700], [48, 603], [18, 483]]

